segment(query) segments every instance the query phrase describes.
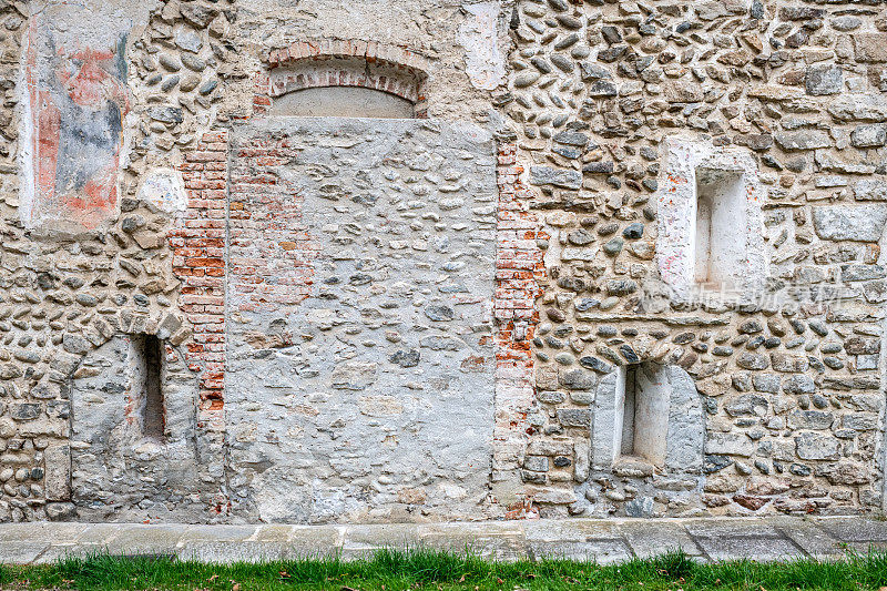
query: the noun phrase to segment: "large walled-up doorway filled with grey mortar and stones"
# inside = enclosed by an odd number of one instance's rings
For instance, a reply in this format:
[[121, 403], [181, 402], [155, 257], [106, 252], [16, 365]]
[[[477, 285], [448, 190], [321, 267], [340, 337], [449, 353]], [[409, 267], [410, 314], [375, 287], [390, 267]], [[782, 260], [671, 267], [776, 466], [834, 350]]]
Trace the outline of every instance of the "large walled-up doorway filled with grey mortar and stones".
[[234, 131], [230, 163], [233, 511], [476, 514], [493, 427], [491, 135], [268, 118]]

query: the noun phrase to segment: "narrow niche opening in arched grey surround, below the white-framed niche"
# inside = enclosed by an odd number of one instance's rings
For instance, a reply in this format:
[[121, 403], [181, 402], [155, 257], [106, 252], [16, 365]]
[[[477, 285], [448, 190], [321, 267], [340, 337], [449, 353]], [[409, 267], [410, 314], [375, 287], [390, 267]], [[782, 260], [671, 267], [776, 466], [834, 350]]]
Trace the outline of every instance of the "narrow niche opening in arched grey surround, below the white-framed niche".
[[619, 459], [636, 458], [661, 467], [665, 463], [669, 435], [667, 376], [656, 364], [631, 365], [623, 371], [615, 429], [620, 437]]

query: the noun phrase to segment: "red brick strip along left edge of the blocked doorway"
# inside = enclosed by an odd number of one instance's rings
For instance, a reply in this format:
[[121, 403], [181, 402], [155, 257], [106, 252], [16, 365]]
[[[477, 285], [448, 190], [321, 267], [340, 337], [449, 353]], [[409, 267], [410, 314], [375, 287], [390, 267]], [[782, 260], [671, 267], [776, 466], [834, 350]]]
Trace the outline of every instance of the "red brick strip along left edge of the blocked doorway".
[[225, 376], [225, 183], [227, 132], [204, 134], [180, 166], [187, 210], [170, 233], [179, 307], [192, 325], [188, 367], [200, 373], [201, 428], [221, 428]]

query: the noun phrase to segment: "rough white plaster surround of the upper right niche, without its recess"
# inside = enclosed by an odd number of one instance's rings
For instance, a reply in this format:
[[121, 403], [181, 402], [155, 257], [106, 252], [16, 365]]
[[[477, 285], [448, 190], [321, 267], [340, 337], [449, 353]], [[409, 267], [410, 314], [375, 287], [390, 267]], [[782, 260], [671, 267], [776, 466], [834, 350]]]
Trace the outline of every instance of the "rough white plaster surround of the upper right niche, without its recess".
[[757, 163], [740, 147], [715, 147], [710, 142], [673, 137], [665, 140], [665, 170], [656, 194], [656, 263], [662, 281], [679, 300], [686, 300], [696, 287], [696, 170], [711, 169], [741, 174], [747, 194], [745, 253], [747, 267], [735, 278], [741, 302], [759, 294], [767, 278], [762, 205], [766, 192], [758, 179]]

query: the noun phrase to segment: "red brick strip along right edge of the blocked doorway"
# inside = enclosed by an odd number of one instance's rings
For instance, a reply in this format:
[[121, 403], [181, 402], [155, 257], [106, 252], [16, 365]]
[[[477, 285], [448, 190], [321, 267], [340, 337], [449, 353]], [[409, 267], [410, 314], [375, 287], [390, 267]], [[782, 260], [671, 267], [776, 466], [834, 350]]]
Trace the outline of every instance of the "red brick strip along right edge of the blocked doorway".
[[[527, 414], [536, 399], [533, 357], [530, 342], [539, 323], [536, 299], [541, 295], [538, 278], [544, 276], [540, 231], [529, 208], [532, 192], [522, 185], [514, 144], [499, 145], [497, 183], [499, 215], [496, 245], [495, 315], [498, 324], [496, 367], [496, 427], [493, 430], [493, 478], [517, 473], [530, 434]], [[507, 517], [526, 517], [529, 499], [507, 508]]]

